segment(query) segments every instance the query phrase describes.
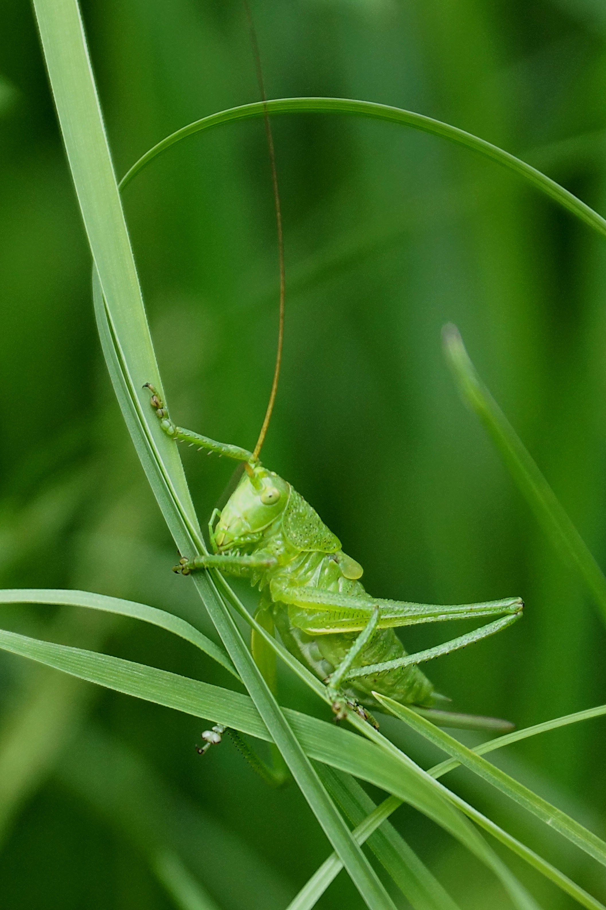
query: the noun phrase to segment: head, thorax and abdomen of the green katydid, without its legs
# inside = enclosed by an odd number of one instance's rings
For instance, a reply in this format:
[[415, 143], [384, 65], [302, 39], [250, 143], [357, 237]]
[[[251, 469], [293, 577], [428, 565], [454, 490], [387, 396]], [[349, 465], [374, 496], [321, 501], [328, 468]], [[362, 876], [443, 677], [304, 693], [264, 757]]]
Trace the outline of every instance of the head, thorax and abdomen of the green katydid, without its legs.
[[[268, 612], [288, 651], [320, 679], [328, 678], [369, 622], [377, 601], [359, 581], [362, 567], [342, 551], [318, 512], [286, 480], [257, 467], [253, 478], [244, 474], [227, 502], [213, 543], [217, 553], [227, 556], [275, 560], [270, 568], [245, 565], [232, 572], [258, 585], [262, 594], [258, 612]], [[331, 602], [331, 595], [355, 598], [366, 609], [339, 606]], [[379, 620], [352, 669], [406, 655], [388, 623], [386, 618], [387, 627], [380, 628]], [[432, 707], [437, 701], [431, 682], [414, 664], [361, 676], [348, 683], [346, 694], [372, 706], [377, 704], [373, 690], [402, 703]]]

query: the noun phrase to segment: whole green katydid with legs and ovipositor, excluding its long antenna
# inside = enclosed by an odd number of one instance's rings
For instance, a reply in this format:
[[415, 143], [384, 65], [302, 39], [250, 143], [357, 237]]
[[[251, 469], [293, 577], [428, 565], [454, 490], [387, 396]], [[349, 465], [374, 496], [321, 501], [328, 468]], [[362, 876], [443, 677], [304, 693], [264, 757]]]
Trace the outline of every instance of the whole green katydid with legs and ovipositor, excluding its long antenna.
[[[188, 574], [205, 568], [248, 579], [261, 596], [256, 619], [276, 631], [285, 647], [328, 684], [338, 719], [359, 705], [377, 706], [373, 693], [415, 706], [435, 723], [503, 730], [507, 722], [436, 710], [449, 699], [440, 695], [419, 662], [431, 660], [479, 641], [520, 618], [520, 598], [443, 606], [389, 601], [372, 597], [359, 579], [362, 567], [341, 549], [307, 501], [254, 453], [209, 440], [177, 427], [151, 387], [151, 403], [162, 429], [174, 440], [245, 462], [246, 472], [223, 511], [213, 513], [209, 536], [213, 554], [184, 557], [176, 567]], [[504, 615], [503, 615], [504, 614]], [[452, 619], [501, 616], [474, 632], [409, 655], [395, 627]], [[252, 652], [268, 679], [272, 660], [268, 645], [253, 632]], [[368, 716], [368, 715], [366, 715]]]

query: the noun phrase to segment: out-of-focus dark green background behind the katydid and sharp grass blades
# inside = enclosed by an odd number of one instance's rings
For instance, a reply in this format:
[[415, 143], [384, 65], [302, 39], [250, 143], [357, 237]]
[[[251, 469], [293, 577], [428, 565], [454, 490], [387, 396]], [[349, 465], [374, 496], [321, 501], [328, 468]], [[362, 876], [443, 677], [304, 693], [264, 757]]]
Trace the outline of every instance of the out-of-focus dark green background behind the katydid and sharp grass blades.
[[[606, 211], [606, 13], [595, 0], [255, 0], [269, 97], [349, 96], [463, 127]], [[258, 99], [239, 0], [83, 6], [122, 175], [163, 136]], [[3, 587], [100, 591], [200, 617], [123, 426], [96, 339], [90, 261], [30, 9], [0, 33], [0, 572]], [[439, 330], [470, 354], [606, 566], [606, 246], [470, 153], [401, 127], [274, 121], [288, 309], [264, 460], [365, 567], [420, 602], [520, 594], [523, 622], [429, 668], [455, 710], [518, 725], [606, 699], [603, 622], [457, 397]], [[277, 331], [263, 125], [172, 149], [125, 193], [173, 416], [251, 447]], [[207, 520], [227, 464], [187, 455]], [[250, 595], [248, 595], [250, 597]], [[230, 685], [166, 633], [48, 607], [2, 626]], [[410, 650], [463, 631], [407, 632]], [[281, 701], [326, 716], [285, 674]], [[279, 910], [329, 853], [294, 786], [273, 792], [203, 724], [0, 655], [0, 888], [11, 910], [174, 906], [178, 855], [223, 910]], [[422, 763], [435, 755], [385, 719]], [[477, 742], [471, 734], [461, 738]], [[601, 721], [496, 759], [605, 834]], [[463, 772], [449, 785], [606, 899], [596, 864]], [[378, 795], [378, 794], [374, 794]], [[394, 823], [465, 910], [500, 885], [411, 809]], [[515, 860], [545, 907], [572, 902]], [[602, 870], [603, 872], [603, 870]], [[322, 908], [358, 908], [340, 875]], [[402, 904], [402, 906], [405, 906]]]

